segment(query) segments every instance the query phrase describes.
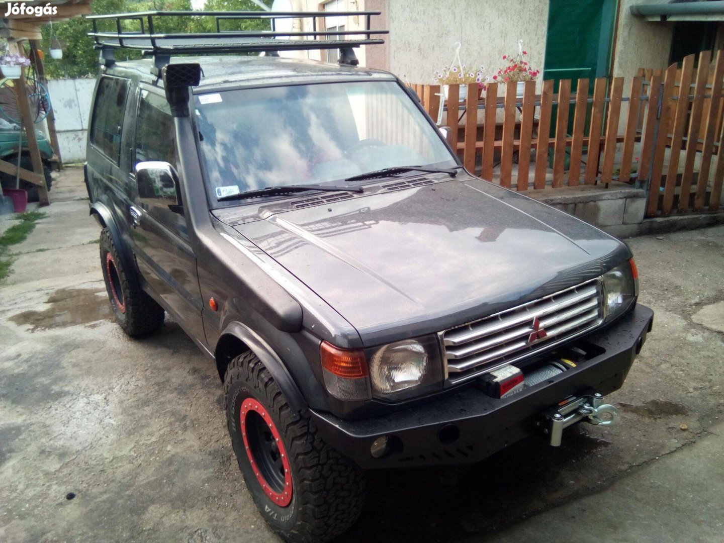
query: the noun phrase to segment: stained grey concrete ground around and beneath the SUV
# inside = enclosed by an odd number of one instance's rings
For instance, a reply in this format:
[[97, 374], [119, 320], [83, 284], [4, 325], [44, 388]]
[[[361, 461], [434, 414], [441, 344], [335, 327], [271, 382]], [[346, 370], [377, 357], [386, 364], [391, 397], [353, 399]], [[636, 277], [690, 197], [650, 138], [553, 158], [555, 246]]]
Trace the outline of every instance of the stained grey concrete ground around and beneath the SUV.
[[[81, 177], [57, 177], [0, 285], [0, 542], [277, 541], [213, 364], [172, 321], [146, 340], [111, 321]], [[621, 424], [466, 468], [370, 473], [340, 542], [724, 540], [724, 227], [629, 243], [656, 317], [610, 396]]]

